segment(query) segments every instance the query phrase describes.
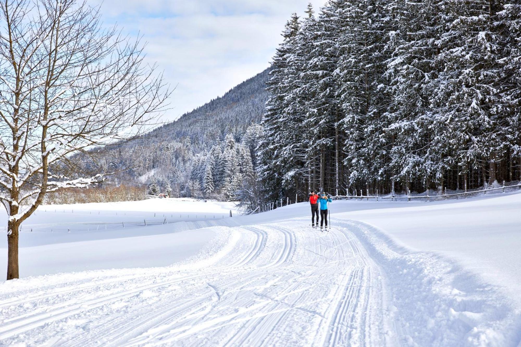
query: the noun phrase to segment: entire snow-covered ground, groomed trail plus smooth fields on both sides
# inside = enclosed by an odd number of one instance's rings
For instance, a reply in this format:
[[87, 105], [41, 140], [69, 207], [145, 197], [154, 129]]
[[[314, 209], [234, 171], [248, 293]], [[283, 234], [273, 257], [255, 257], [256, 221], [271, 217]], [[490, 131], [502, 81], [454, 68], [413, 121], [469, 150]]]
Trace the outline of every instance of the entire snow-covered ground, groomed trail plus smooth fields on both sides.
[[[232, 218], [225, 203], [54, 207], [23, 226], [33, 226], [20, 236], [23, 278], [0, 283], [0, 345], [521, 341], [520, 193], [333, 201], [323, 233], [309, 227], [307, 203]], [[174, 213], [188, 220], [168, 221]], [[169, 224], [48, 230], [121, 214]]]

